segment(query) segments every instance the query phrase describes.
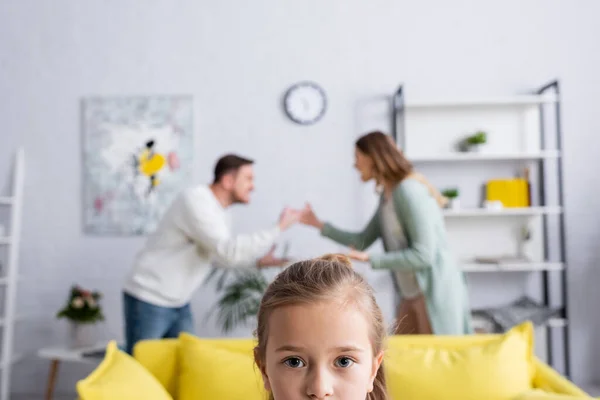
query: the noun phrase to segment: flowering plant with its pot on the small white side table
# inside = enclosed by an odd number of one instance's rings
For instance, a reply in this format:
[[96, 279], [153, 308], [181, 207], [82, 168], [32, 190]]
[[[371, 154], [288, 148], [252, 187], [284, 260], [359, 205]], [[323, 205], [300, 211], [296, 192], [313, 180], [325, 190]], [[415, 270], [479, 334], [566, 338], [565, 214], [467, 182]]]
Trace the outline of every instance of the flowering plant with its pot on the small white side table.
[[97, 291], [85, 290], [77, 285], [71, 287], [67, 303], [58, 311], [58, 319], [66, 318], [69, 321], [71, 347], [91, 345], [92, 339], [85, 334], [84, 326], [91, 326], [104, 320], [104, 314], [99, 300], [102, 295]]

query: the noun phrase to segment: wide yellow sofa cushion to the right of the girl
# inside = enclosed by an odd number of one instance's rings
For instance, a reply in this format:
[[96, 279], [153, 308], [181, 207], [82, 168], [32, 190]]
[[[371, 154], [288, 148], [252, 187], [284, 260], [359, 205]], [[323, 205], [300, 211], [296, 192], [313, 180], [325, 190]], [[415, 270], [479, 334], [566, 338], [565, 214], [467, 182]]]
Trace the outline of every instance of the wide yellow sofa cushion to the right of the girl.
[[392, 399], [512, 400], [533, 388], [533, 326], [470, 343], [464, 336], [394, 336], [384, 370]]

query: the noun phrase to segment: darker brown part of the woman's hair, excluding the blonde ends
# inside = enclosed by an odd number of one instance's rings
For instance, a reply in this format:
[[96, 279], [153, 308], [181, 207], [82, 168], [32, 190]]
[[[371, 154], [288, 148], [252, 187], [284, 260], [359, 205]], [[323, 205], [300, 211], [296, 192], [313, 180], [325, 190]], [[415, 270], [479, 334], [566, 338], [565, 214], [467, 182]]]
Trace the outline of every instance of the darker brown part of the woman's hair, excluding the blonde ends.
[[361, 136], [356, 147], [373, 160], [377, 183], [399, 183], [413, 171], [413, 166], [389, 135], [374, 131]]

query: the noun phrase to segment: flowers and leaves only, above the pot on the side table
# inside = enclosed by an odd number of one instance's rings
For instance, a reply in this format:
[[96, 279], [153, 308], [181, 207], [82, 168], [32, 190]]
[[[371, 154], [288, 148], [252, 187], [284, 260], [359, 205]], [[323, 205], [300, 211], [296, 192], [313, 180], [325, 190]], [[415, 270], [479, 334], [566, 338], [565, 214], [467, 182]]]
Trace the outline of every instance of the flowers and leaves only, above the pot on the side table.
[[93, 324], [104, 320], [104, 314], [98, 301], [102, 295], [73, 286], [67, 304], [56, 314], [56, 318], [67, 318], [71, 322]]

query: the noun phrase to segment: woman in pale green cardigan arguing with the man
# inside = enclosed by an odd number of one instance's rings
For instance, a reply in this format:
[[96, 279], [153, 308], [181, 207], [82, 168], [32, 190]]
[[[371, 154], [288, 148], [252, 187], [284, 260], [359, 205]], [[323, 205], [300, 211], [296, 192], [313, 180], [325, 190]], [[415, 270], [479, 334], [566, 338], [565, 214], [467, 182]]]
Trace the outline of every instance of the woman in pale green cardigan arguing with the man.
[[[472, 333], [463, 272], [451, 255], [441, 208], [446, 199], [396, 148], [388, 135], [371, 132], [356, 142], [355, 167], [381, 192], [375, 215], [362, 232], [350, 233], [320, 221], [307, 205], [301, 222], [352, 247], [350, 258], [393, 272], [401, 302], [396, 334]], [[385, 253], [367, 253], [375, 240]]]

